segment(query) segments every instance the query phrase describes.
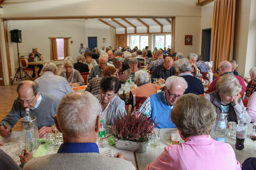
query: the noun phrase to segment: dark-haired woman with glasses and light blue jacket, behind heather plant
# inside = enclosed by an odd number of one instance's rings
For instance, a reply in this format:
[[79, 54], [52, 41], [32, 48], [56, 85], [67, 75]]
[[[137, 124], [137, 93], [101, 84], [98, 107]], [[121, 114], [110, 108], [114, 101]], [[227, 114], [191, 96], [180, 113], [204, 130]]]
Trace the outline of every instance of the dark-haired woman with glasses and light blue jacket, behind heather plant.
[[100, 82], [100, 95], [95, 96], [100, 101], [101, 118], [106, 125], [113, 122], [113, 117], [126, 114], [124, 100], [119, 98], [120, 81], [115, 77], [105, 77]]

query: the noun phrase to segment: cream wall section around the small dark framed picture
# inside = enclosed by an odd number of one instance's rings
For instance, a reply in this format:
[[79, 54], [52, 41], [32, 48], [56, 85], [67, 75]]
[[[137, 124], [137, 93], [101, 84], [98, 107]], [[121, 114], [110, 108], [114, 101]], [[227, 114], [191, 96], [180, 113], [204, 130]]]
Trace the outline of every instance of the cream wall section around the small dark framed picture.
[[[185, 46], [185, 35], [193, 35], [193, 44]], [[175, 52], [185, 56], [189, 53], [201, 53], [201, 17], [177, 16], [175, 19]]]

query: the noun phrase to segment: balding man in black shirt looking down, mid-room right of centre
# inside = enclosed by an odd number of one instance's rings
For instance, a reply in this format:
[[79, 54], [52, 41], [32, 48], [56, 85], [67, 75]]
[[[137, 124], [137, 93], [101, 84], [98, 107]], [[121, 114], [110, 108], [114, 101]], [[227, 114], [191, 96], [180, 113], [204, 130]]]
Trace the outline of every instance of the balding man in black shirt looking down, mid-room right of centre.
[[172, 66], [172, 57], [165, 57], [163, 64], [158, 65], [153, 70], [151, 78], [159, 78], [159, 81], [165, 82], [167, 78], [176, 74], [175, 68]]

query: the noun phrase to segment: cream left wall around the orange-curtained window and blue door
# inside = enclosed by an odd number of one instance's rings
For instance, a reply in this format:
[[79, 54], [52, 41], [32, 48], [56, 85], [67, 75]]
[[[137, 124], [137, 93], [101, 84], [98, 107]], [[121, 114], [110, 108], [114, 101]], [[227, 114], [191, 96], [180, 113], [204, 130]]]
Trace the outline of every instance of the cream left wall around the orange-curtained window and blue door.
[[[115, 46], [115, 29], [98, 20], [18, 20], [8, 21], [9, 32], [13, 29], [21, 30], [22, 43], [19, 43], [20, 56], [27, 56], [32, 48], [37, 47], [45, 60], [50, 60], [51, 49], [48, 37], [71, 37], [69, 39], [70, 56], [76, 61], [81, 43], [88, 46], [87, 37], [97, 37], [99, 49], [102, 46]], [[106, 43], [102, 43], [106, 38]], [[70, 44], [73, 41], [73, 44]], [[16, 43], [10, 43], [12, 73], [18, 67]], [[63, 61], [55, 62], [62, 64]]]

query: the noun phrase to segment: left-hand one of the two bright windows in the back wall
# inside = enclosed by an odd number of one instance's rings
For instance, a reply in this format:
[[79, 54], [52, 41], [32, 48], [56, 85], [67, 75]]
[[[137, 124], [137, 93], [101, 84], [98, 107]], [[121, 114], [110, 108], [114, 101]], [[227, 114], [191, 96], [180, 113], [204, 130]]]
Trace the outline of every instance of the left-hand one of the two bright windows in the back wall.
[[143, 49], [146, 46], [148, 46], [148, 36], [140, 36], [140, 35], [130, 36], [131, 49], [133, 49], [135, 46], [137, 46], [139, 49]]

